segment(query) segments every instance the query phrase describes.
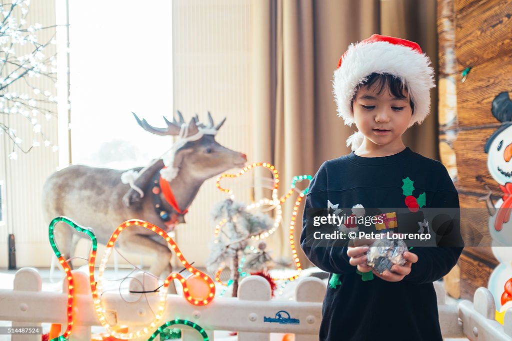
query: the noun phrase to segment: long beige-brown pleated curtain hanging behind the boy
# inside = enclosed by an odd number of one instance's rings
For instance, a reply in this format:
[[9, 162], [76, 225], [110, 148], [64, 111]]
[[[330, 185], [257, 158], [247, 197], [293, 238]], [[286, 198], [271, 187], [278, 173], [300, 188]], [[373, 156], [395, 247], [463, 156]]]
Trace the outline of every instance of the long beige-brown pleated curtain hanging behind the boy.
[[[437, 71], [435, 0], [253, 0], [251, 10], [253, 153], [279, 170], [280, 195], [294, 175], [314, 174], [350, 152], [345, 140], [353, 129], [336, 116], [332, 78], [351, 42], [373, 33], [416, 41]], [[431, 96], [430, 117], [409, 129], [404, 143], [438, 160], [437, 89]], [[258, 185], [265, 174], [257, 175]], [[262, 195], [268, 193], [255, 190]], [[285, 229], [268, 239], [274, 258], [290, 259], [286, 228], [294, 201], [283, 206]]]

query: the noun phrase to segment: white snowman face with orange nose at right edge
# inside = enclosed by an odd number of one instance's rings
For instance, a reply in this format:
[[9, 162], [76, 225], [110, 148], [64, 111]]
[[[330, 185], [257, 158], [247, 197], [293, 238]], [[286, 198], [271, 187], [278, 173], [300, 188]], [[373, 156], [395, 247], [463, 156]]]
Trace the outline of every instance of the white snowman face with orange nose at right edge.
[[487, 168], [500, 185], [512, 183], [512, 125], [501, 131], [490, 144]]

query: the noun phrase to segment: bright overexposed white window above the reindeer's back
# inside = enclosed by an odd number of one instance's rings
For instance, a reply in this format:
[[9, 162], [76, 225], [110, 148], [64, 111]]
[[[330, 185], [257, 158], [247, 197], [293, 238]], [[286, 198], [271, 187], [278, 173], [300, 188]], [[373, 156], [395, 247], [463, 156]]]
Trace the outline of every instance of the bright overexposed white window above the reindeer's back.
[[172, 139], [144, 131], [173, 115], [172, 2], [69, 2], [73, 164], [145, 166]]

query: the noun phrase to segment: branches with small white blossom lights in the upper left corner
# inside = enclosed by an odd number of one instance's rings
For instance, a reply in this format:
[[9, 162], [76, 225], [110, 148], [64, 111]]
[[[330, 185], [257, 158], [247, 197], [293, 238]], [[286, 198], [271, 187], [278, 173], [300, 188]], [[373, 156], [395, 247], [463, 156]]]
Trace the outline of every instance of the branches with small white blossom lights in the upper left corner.
[[[0, 4], [0, 115], [18, 115], [32, 125], [33, 136], [21, 137], [6, 123], [0, 123], [0, 132], [6, 132], [11, 140], [10, 160], [16, 160], [17, 152], [28, 153], [32, 147], [52, 146], [39, 121], [56, 117], [52, 110], [57, 97], [49, 89], [37, 86], [39, 78], [49, 79], [56, 88], [56, 54], [48, 56], [47, 48], [55, 44], [55, 34], [41, 42], [39, 36], [56, 26], [44, 27], [41, 24], [28, 25], [30, 0], [12, 0]], [[29, 93], [17, 93], [14, 85], [30, 89]], [[22, 85], [23, 84], [23, 85]], [[9, 122], [9, 120], [2, 120]], [[24, 147], [23, 141], [33, 141], [30, 147]], [[53, 148], [55, 151], [56, 148]]]

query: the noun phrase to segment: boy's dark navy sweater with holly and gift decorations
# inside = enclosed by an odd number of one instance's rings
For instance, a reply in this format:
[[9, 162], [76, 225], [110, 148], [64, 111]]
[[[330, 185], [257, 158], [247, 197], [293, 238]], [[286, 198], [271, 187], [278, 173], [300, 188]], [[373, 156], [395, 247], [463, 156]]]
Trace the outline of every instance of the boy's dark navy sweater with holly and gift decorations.
[[[409, 148], [382, 157], [361, 157], [353, 152], [325, 162], [311, 181], [306, 206], [339, 208], [407, 208], [403, 179], [414, 181], [412, 195], [425, 193], [426, 208], [458, 208], [459, 198], [444, 166]], [[304, 214], [303, 226], [307, 225]], [[462, 247], [414, 247], [418, 255], [411, 274], [400, 282], [374, 276], [362, 281], [349, 264], [347, 246], [301, 246], [317, 267], [338, 274], [341, 285], [328, 286], [324, 299], [320, 340], [442, 340], [436, 293], [432, 282], [457, 263]]]

